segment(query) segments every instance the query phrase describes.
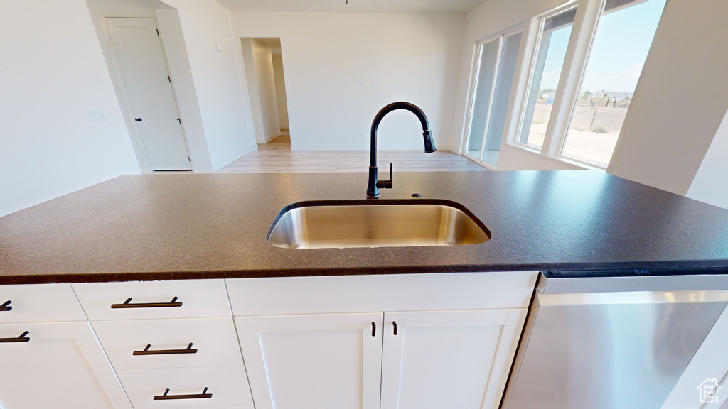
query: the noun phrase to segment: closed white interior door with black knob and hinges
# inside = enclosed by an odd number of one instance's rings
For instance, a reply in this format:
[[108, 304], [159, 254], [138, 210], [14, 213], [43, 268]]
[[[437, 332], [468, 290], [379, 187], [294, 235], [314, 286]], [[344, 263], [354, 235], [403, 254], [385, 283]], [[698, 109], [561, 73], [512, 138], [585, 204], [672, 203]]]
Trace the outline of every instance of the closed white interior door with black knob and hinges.
[[191, 170], [154, 18], [107, 18], [111, 44], [151, 170]]

